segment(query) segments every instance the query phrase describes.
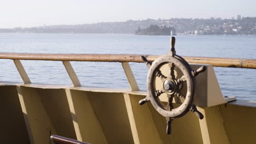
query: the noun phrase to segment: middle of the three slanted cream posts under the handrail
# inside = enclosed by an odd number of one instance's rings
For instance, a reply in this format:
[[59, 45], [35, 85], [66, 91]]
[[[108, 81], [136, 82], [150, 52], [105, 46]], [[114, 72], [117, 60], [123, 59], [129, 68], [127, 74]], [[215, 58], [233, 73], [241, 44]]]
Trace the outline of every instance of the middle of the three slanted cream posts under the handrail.
[[67, 73], [68, 73], [74, 87], [80, 87], [81, 86], [80, 81], [77, 77], [77, 74], [75, 74], [75, 71], [72, 68], [71, 63], [69, 61], [62, 61], [62, 63], [65, 66]]

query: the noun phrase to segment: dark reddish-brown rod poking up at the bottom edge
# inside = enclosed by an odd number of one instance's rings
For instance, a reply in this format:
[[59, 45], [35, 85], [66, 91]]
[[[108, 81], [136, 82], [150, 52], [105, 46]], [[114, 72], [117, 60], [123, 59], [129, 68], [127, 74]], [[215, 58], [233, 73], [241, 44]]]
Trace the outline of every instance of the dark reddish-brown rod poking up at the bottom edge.
[[90, 144], [82, 141], [77, 141], [73, 139], [68, 139], [67, 137], [62, 137], [59, 135], [51, 135], [51, 140], [56, 144]]

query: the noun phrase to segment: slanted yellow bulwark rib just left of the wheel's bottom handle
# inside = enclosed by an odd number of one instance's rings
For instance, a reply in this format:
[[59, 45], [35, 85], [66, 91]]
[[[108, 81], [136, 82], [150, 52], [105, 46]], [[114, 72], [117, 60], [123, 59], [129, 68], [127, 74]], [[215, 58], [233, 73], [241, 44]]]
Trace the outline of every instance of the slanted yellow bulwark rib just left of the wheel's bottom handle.
[[138, 104], [138, 101], [142, 98], [139, 95], [124, 94], [133, 141], [135, 144], [162, 143], [148, 105]]

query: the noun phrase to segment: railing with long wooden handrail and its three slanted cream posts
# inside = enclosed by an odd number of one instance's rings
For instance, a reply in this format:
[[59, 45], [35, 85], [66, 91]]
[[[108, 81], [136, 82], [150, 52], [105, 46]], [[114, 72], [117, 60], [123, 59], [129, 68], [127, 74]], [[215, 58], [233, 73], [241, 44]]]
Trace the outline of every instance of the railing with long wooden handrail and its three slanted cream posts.
[[[143, 63], [142, 55], [109, 55], [109, 54], [53, 54], [53, 53], [0, 53], [0, 59], [13, 59], [24, 83], [31, 83], [20, 60], [38, 61], [62, 61], [67, 73], [75, 87], [79, 87], [80, 81], [69, 61], [84, 62], [120, 62], [132, 91], [138, 91], [139, 87], [133, 76], [129, 62]], [[143, 55], [148, 61], [154, 61], [158, 56]], [[256, 59], [242, 58], [216, 58], [216, 57], [183, 57], [189, 63], [211, 64], [214, 67], [249, 68], [256, 69]]]

